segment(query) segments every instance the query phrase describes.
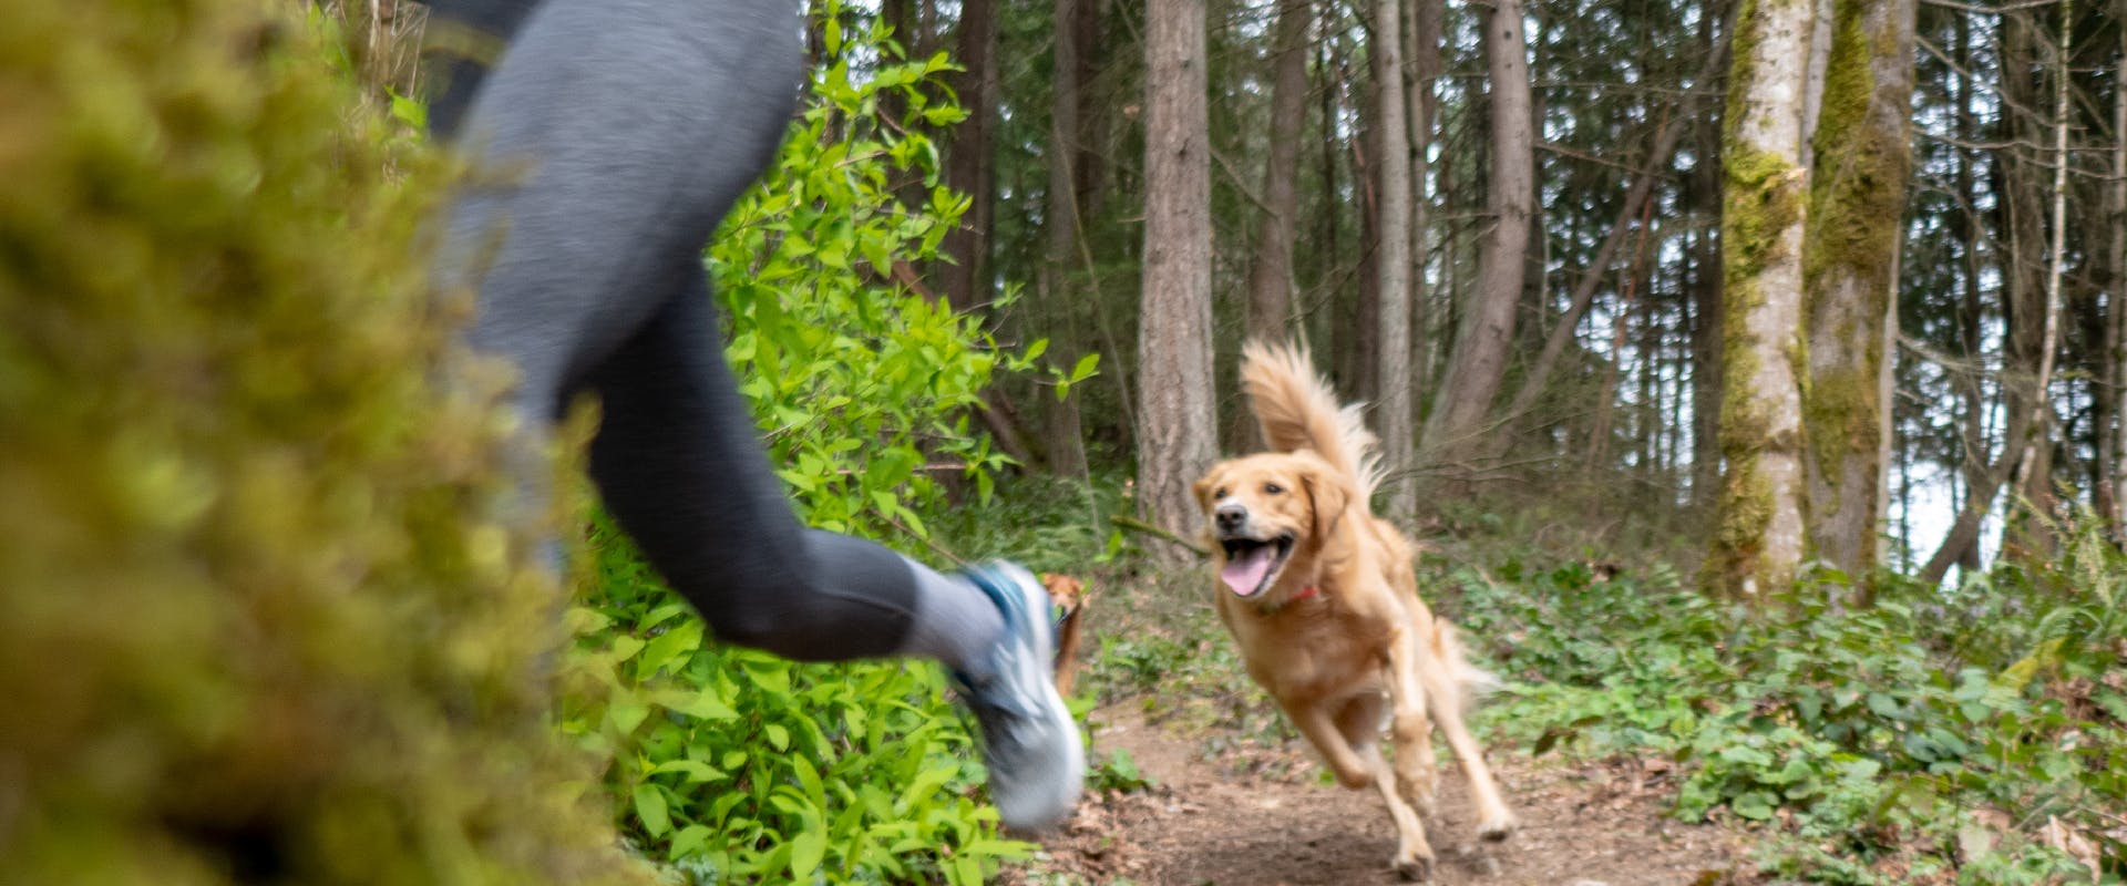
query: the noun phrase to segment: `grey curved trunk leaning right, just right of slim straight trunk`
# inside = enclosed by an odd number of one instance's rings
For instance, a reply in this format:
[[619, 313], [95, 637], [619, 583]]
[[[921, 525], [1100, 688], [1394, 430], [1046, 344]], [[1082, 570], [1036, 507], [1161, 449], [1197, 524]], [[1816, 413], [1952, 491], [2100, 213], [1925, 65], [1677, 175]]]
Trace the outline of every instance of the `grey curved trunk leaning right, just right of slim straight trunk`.
[[1483, 444], [1491, 402], [1506, 376], [1514, 310], [1527, 276], [1529, 215], [1536, 202], [1536, 132], [1529, 121], [1529, 51], [1521, 0], [1497, 0], [1485, 19], [1491, 74], [1491, 227], [1478, 246], [1478, 283], [1440, 402], [1425, 425], [1434, 461], [1459, 467]]

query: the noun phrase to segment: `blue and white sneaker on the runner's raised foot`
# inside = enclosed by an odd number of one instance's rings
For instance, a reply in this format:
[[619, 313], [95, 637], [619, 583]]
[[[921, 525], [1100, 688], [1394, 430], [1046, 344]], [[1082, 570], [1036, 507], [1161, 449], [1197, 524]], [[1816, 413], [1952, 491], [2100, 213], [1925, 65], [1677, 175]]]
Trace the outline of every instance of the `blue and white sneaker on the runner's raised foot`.
[[1015, 831], [1040, 831], [1070, 816], [1085, 786], [1078, 725], [1055, 684], [1055, 629], [1049, 591], [1017, 563], [991, 561], [961, 572], [1004, 612], [1004, 637], [989, 678], [953, 674], [968, 710], [983, 725], [989, 799]]

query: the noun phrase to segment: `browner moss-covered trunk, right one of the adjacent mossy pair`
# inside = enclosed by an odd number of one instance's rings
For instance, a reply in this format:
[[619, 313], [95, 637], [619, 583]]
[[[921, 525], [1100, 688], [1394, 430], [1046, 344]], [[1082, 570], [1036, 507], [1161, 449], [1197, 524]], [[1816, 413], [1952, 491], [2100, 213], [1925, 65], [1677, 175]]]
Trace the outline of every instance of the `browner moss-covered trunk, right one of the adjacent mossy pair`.
[[1912, 0], [1838, 0], [1806, 253], [1810, 546], [1859, 576], [1878, 559], [1885, 329], [1912, 168]]

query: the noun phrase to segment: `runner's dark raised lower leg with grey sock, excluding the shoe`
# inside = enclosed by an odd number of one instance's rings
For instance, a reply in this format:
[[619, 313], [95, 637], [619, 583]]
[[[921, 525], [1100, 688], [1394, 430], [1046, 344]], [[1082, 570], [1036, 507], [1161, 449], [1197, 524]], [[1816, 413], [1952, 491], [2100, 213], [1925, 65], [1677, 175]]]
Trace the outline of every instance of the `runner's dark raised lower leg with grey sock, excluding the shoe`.
[[802, 661], [923, 654], [989, 674], [1004, 618], [972, 586], [878, 544], [804, 529], [730, 378], [700, 259], [591, 372], [591, 476], [717, 635]]

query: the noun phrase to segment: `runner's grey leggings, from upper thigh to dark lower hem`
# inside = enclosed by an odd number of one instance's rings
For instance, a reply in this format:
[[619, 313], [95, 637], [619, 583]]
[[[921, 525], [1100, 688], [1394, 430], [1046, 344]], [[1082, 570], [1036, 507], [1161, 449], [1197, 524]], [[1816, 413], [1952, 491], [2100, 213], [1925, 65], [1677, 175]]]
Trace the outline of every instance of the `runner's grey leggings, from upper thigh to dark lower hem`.
[[447, 70], [430, 110], [489, 178], [455, 206], [442, 263], [479, 285], [472, 342], [517, 363], [527, 414], [602, 397], [591, 478], [719, 637], [806, 661], [898, 650], [910, 563], [791, 514], [723, 365], [702, 272], [702, 246], [795, 108], [798, 4], [432, 11], [453, 19], [508, 40], [485, 83], [474, 66]]

